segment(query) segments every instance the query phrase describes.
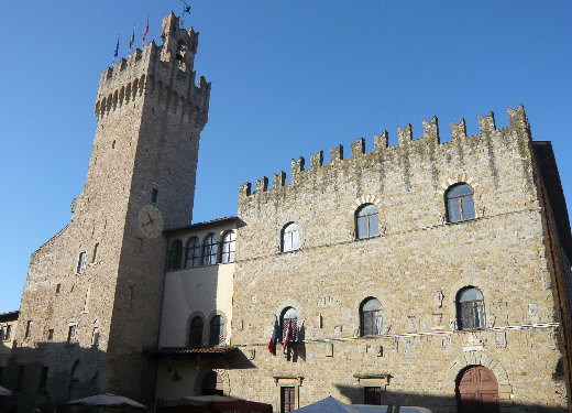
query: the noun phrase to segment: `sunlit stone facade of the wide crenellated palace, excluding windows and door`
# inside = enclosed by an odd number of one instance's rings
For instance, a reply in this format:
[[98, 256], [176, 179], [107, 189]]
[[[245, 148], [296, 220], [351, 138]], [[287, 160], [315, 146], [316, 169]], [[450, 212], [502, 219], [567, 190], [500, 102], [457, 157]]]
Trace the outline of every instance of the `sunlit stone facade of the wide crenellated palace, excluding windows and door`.
[[[235, 395], [278, 409], [280, 383], [304, 377], [300, 406], [329, 394], [363, 403], [354, 374], [387, 373], [386, 403], [426, 395], [418, 401], [447, 412], [457, 409], [459, 372], [483, 365], [495, 373], [504, 403], [565, 403], [554, 391], [561, 379], [552, 378], [561, 357], [559, 319], [528, 120], [522, 107], [509, 109], [509, 118], [496, 129], [492, 113], [481, 117], [473, 137], [464, 120], [452, 124], [447, 143], [439, 143], [433, 118], [424, 122], [421, 139], [413, 140], [408, 126], [395, 146], [387, 148], [384, 133], [371, 153], [359, 141], [348, 159], [332, 150], [328, 165], [321, 154], [309, 170], [304, 159], [293, 161], [289, 185], [277, 175], [272, 189], [265, 180], [254, 194], [250, 184], [241, 186], [245, 225], [237, 241], [232, 344], [246, 355], [255, 349], [255, 357], [250, 368], [229, 370]], [[458, 182], [473, 186], [477, 219], [447, 224], [443, 195]], [[381, 236], [355, 240], [354, 213], [365, 203], [378, 207]], [[300, 226], [302, 248], [280, 253], [289, 221]], [[455, 294], [468, 285], [482, 291], [486, 325], [497, 330], [455, 330]], [[369, 296], [382, 303], [386, 335], [353, 339]], [[289, 360], [265, 348], [286, 306], [298, 311], [305, 337]], [[443, 335], [431, 335], [433, 314], [442, 314]], [[530, 327], [539, 323], [547, 325]]]

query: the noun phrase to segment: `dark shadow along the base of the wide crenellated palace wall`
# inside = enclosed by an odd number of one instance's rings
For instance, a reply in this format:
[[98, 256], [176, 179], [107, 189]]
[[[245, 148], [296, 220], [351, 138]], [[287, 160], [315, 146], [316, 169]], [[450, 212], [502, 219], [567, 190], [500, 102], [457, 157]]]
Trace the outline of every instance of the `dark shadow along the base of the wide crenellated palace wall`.
[[[428, 373], [428, 376], [430, 376]], [[343, 396], [350, 400], [351, 404], [363, 404], [364, 394], [363, 388], [350, 387], [343, 384], [336, 385]], [[394, 406], [421, 406], [430, 409], [433, 413], [458, 413], [458, 412], [471, 412], [471, 413], [495, 413], [495, 412], [518, 412], [518, 413], [563, 413], [568, 412], [565, 407], [547, 407], [538, 404], [527, 403], [513, 403], [513, 402], [501, 402], [499, 405], [484, 406], [481, 409], [462, 410], [458, 406], [455, 398], [448, 398], [436, 394], [416, 394], [406, 392], [394, 392], [394, 391], [382, 391], [381, 394], [382, 405], [394, 405]]]

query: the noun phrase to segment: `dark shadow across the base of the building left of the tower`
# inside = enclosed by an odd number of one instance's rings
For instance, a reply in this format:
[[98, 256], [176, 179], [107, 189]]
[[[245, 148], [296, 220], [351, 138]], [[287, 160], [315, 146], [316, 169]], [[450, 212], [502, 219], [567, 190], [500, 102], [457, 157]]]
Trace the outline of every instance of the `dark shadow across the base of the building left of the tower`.
[[0, 379], [0, 385], [13, 391], [0, 398], [2, 413], [67, 412], [67, 401], [102, 392], [98, 366], [106, 352], [96, 346], [36, 343], [35, 347], [15, 347], [12, 355]]

